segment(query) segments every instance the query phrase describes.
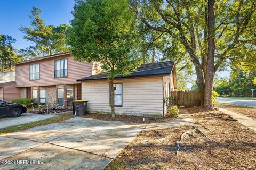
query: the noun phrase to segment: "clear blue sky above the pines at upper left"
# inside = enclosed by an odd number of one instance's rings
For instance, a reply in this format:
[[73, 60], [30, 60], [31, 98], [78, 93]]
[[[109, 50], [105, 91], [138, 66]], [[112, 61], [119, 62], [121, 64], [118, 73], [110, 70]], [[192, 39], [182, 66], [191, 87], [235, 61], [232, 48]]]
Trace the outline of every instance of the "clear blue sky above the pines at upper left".
[[31, 43], [23, 39], [24, 34], [19, 28], [21, 25], [31, 27], [28, 15], [32, 6], [42, 10], [41, 18], [46, 25], [58, 26], [69, 24], [73, 19], [74, 4], [74, 0], [0, 0], [0, 34], [15, 38], [15, 48], [26, 48]]

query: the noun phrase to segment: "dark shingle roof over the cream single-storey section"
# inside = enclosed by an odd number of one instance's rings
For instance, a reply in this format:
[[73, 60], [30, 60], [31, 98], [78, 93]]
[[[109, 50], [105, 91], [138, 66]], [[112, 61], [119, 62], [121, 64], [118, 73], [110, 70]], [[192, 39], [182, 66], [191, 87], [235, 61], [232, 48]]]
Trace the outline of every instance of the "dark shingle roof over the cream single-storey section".
[[[159, 62], [159, 63], [142, 64], [136, 71], [133, 71], [131, 73], [131, 75], [123, 76], [123, 75], [119, 74], [119, 75], [116, 75], [115, 78], [142, 77], [142, 76], [148, 76], [148, 75], [171, 74], [174, 63], [175, 63], [174, 61], [167, 61], [167, 62]], [[89, 77], [78, 79], [77, 81], [107, 79], [107, 74], [108, 73], [91, 75]]]

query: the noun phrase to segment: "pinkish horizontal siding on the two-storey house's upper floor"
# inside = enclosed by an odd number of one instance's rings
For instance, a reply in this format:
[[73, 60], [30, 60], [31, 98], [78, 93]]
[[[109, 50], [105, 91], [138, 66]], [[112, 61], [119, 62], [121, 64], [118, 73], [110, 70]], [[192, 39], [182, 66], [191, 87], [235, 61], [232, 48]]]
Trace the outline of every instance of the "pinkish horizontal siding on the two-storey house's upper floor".
[[[54, 78], [54, 61], [67, 58], [67, 77]], [[29, 79], [29, 65], [39, 63], [39, 80]], [[75, 61], [69, 54], [16, 65], [17, 87], [79, 84], [77, 79], [92, 75], [92, 63]]]

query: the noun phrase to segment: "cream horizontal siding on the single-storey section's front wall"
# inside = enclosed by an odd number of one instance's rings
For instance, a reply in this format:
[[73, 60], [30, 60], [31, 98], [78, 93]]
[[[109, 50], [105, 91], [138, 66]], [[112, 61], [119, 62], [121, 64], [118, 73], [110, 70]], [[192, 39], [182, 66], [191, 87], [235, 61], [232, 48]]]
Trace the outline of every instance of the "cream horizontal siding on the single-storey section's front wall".
[[[118, 79], [122, 83], [123, 106], [115, 107], [117, 114], [163, 116], [163, 78]], [[82, 82], [82, 99], [89, 100], [89, 112], [110, 113], [107, 80]]]

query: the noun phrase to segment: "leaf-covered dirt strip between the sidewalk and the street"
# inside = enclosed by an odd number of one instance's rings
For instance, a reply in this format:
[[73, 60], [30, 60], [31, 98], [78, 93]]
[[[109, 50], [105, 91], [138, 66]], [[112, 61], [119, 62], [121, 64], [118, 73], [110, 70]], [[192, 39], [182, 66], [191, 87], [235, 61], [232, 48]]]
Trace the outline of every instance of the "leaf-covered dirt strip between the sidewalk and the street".
[[234, 105], [230, 103], [220, 103], [217, 104], [218, 107], [228, 109], [229, 111], [233, 111], [244, 116], [250, 117], [256, 120], [256, 108]]

